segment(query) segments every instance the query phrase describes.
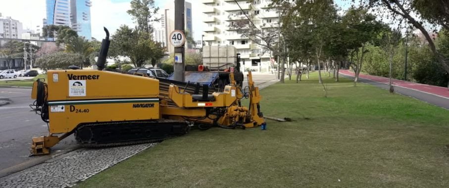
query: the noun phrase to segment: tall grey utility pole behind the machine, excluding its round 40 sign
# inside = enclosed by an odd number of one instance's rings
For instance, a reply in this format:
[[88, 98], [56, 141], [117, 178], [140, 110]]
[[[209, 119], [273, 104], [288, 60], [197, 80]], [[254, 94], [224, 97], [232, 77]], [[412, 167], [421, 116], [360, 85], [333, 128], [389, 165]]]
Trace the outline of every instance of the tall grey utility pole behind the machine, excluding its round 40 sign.
[[[175, 0], [175, 30], [180, 30], [184, 32], [184, 11], [185, 11], [185, 0]], [[171, 36], [170, 36], [171, 37]], [[185, 45], [181, 47], [175, 47], [175, 55], [181, 54], [182, 62], [174, 62], [174, 75], [173, 78], [176, 81], [185, 82]]]

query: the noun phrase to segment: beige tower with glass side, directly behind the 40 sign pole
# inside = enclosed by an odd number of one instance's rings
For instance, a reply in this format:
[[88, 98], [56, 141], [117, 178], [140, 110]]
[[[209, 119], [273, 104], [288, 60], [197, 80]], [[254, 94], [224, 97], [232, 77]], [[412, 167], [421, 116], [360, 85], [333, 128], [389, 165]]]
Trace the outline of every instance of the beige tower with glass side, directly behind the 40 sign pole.
[[[168, 38], [170, 33], [175, 30], [175, 5], [169, 3], [165, 8], [159, 9], [159, 22], [151, 23], [154, 27], [153, 38], [155, 41], [162, 43], [167, 47], [169, 53], [174, 53], [175, 47], [170, 44]], [[188, 37], [193, 38], [193, 22], [192, 22], [192, 3], [185, 2], [185, 18], [184, 26]], [[186, 43], [187, 48], [195, 47], [195, 44]]]

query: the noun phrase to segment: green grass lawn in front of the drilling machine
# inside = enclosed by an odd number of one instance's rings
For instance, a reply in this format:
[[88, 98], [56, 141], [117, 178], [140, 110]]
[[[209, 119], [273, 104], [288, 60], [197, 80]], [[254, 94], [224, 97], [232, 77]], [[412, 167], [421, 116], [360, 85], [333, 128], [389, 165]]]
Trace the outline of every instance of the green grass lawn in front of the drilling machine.
[[316, 74], [261, 91], [267, 130], [193, 130], [78, 187], [449, 187], [449, 111]]

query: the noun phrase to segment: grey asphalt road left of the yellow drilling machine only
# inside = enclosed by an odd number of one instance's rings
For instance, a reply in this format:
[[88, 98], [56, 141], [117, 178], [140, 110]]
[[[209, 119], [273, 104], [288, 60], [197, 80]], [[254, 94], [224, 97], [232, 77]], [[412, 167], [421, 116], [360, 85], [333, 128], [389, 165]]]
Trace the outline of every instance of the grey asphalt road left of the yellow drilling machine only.
[[[0, 88], [0, 98], [6, 97], [12, 101], [0, 107], [0, 171], [19, 163], [46, 157], [28, 157], [31, 138], [48, 134], [47, 124], [28, 106], [33, 103], [30, 94], [31, 89]], [[71, 136], [57, 144], [52, 151], [64, 151], [74, 144], [74, 138]]]

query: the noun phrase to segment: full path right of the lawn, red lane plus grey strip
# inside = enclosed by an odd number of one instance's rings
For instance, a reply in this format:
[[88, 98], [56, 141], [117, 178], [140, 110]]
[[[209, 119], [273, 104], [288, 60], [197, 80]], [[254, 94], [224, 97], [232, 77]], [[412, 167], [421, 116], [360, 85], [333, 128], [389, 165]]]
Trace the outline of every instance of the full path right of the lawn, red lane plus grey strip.
[[[348, 70], [342, 70], [340, 71], [340, 74], [346, 77], [353, 77], [354, 75]], [[389, 89], [389, 79], [385, 77], [360, 74], [359, 80], [360, 82], [371, 84], [379, 88], [383, 88], [386, 90]], [[448, 88], [417, 84], [396, 79], [393, 79], [392, 83], [395, 86], [396, 93], [411, 96], [413, 98], [449, 109]]]

